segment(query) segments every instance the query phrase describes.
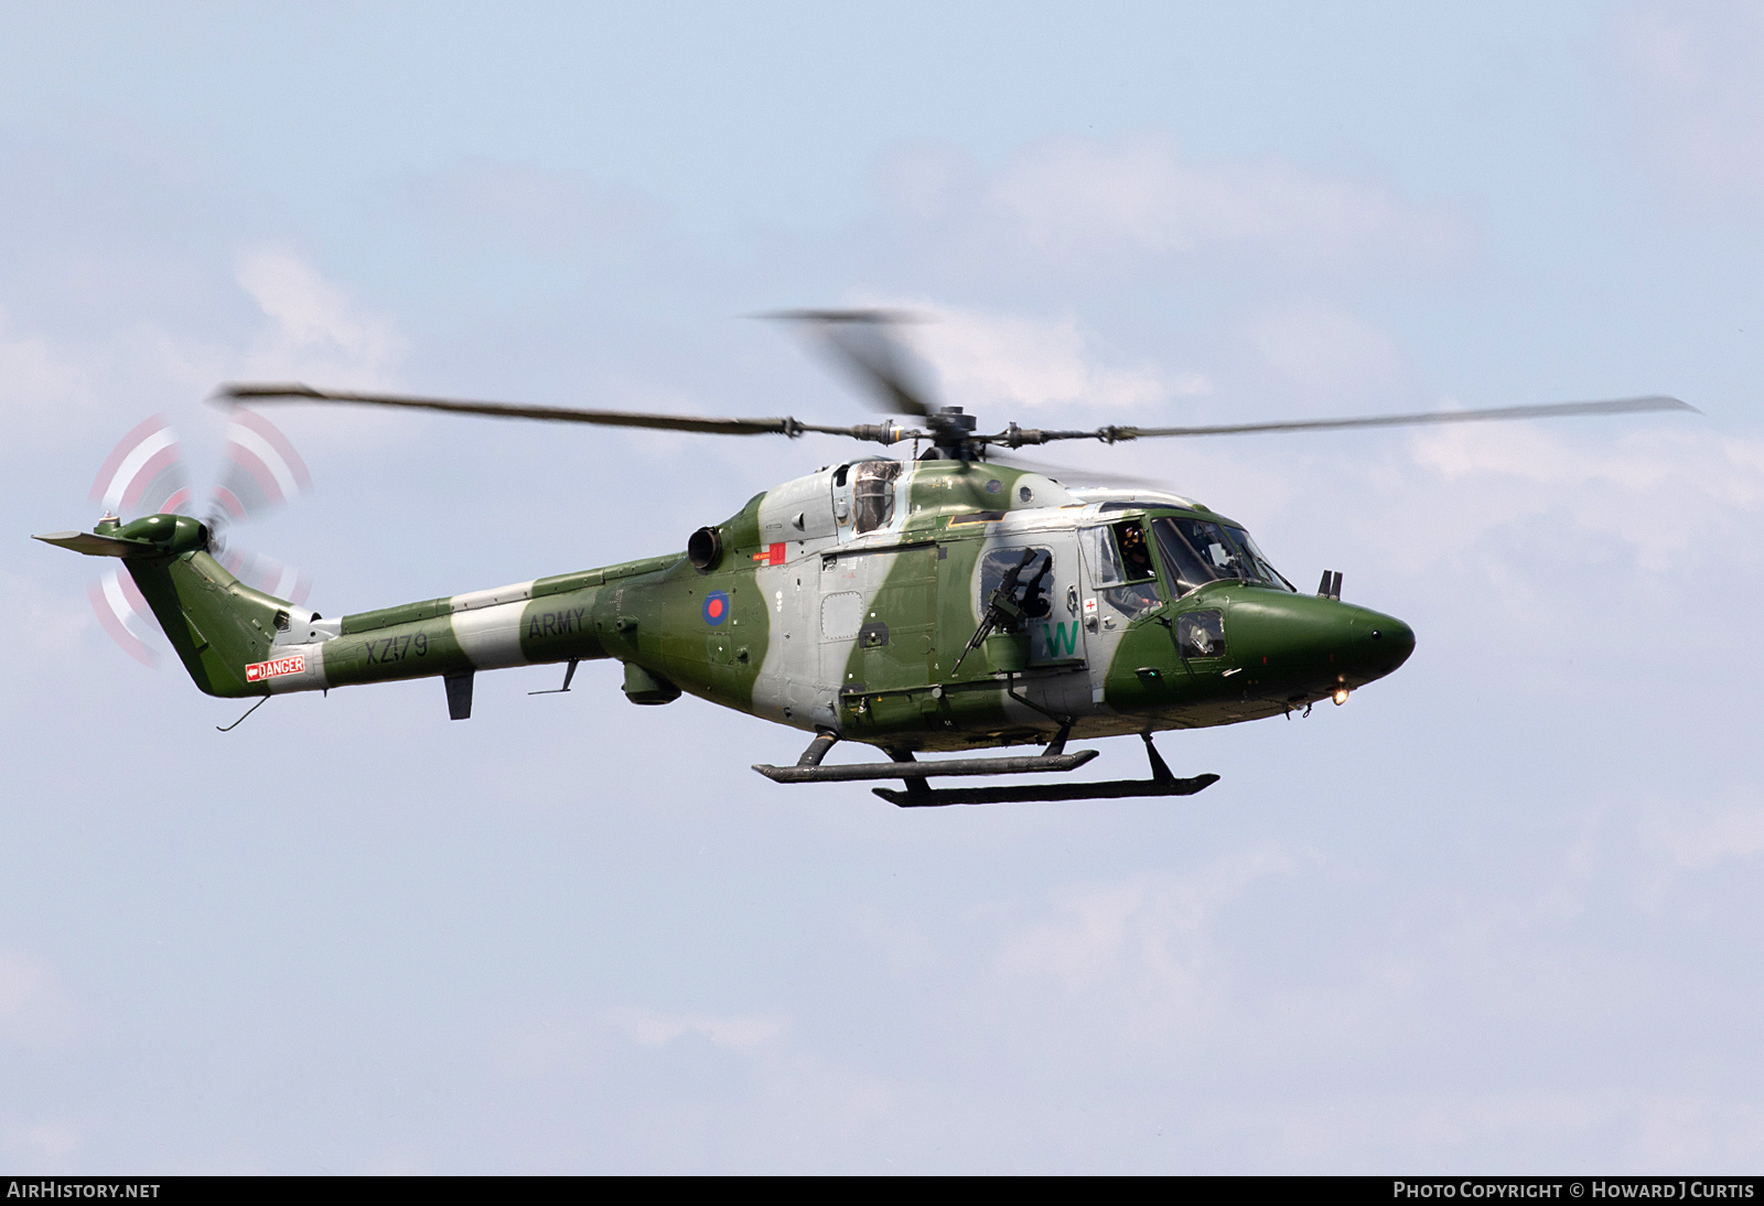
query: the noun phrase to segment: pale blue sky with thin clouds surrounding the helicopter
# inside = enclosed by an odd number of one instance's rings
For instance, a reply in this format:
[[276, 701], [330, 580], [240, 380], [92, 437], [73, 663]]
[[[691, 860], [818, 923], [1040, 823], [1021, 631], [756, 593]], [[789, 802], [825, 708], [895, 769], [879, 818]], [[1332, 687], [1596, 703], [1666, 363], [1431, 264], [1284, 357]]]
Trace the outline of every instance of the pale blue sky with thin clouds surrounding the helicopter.
[[[1748, 4], [7, 5], [0, 1165], [1755, 1172], [1760, 282]], [[1418, 636], [1173, 800], [778, 786], [616, 663], [219, 733], [26, 540], [150, 414], [212, 478], [222, 381], [870, 421], [799, 305], [993, 428], [1700, 414], [1062, 448]], [[273, 418], [326, 615], [850, 457]]]

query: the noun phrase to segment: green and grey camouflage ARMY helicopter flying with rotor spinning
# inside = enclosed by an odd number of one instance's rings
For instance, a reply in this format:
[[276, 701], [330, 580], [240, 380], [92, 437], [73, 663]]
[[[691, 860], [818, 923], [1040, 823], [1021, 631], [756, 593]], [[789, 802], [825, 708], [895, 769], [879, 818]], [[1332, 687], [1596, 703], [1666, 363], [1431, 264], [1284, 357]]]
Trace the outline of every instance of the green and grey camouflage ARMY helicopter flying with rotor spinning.
[[[1300, 592], [1245, 527], [1143, 487], [1069, 487], [1013, 464], [1057, 441], [1198, 437], [1348, 427], [1688, 411], [1667, 397], [1214, 427], [981, 434], [935, 406], [891, 335], [900, 316], [794, 310], [790, 319], [903, 421], [826, 427], [794, 418], [691, 418], [508, 406], [303, 384], [233, 384], [229, 404], [415, 407], [720, 436], [847, 436], [910, 460], [848, 460], [757, 494], [684, 552], [577, 570], [490, 591], [321, 617], [252, 589], [213, 557], [189, 515], [37, 536], [120, 557], [196, 686], [243, 698], [436, 677], [448, 714], [471, 716], [480, 670], [582, 661], [624, 665], [633, 704], [683, 691], [811, 733], [796, 765], [755, 765], [776, 783], [900, 779], [900, 806], [1191, 795], [1215, 774], [1177, 778], [1152, 744], [1164, 730], [1309, 711], [1401, 666], [1402, 621], [1341, 599], [1325, 571]], [[919, 446], [923, 451], [917, 451]], [[1002, 451], [1011, 450], [1011, 451]], [[247, 712], [249, 714], [249, 712]], [[1150, 778], [933, 788], [931, 779], [1069, 772], [1097, 756], [1069, 741], [1140, 735]], [[826, 763], [840, 741], [887, 762]], [[1025, 756], [977, 749], [1043, 746]], [[921, 762], [919, 753], [965, 756]]]

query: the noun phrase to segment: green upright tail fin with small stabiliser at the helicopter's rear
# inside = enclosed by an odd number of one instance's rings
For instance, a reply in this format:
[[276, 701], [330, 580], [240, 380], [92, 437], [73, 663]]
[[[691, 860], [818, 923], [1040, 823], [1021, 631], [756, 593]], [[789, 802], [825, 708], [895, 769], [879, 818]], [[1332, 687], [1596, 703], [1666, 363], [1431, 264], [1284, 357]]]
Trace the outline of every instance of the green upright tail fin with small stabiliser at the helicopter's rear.
[[208, 695], [265, 695], [245, 666], [265, 661], [293, 603], [252, 591], [208, 554], [208, 527], [187, 515], [148, 515], [95, 532], [51, 532], [37, 540], [92, 557], [122, 557], [129, 577], [178, 651], [183, 668]]

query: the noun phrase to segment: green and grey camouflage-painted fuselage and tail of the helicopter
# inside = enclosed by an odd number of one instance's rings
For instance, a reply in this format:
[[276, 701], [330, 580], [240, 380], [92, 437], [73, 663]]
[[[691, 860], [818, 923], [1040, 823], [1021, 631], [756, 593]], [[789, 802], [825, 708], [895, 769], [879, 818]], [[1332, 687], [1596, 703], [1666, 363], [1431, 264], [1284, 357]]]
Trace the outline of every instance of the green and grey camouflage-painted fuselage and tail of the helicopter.
[[[210, 695], [614, 658], [635, 702], [688, 691], [896, 751], [1256, 719], [1383, 677], [1413, 649], [1401, 621], [1337, 599], [1242, 580], [1170, 598], [1161, 557], [1155, 603], [1111, 612], [1085, 554], [1094, 532], [1162, 515], [1224, 522], [1175, 495], [1120, 494], [984, 462], [861, 460], [755, 495], [702, 538], [714, 548], [702, 568], [672, 554], [342, 619], [245, 587], [187, 517], [51, 541], [123, 555]], [[1046, 612], [963, 658], [988, 566], [997, 580], [1025, 550], [1048, 559]], [[1178, 638], [1194, 615], [1221, 635], [1205, 656]]]

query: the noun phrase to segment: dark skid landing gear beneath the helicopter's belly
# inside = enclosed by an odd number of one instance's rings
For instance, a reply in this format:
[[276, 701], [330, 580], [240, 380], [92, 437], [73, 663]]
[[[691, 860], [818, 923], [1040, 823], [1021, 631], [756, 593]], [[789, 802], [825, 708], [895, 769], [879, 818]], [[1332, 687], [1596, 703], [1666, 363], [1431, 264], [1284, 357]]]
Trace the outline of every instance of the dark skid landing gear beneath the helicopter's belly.
[[1200, 774], [1192, 779], [1178, 779], [1164, 765], [1150, 733], [1145, 739], [1145, 753], [1152, 762], [1150, 779], [1110, 779], [1106, 783], [1032, 783], [1023, 786], [983, 786], [983, 788], [931, 788], [928, 779], [944, 776], [979, 776], [979, 774], [1046, 774], [1076, 770], [1097, 756], [1095, 749], [1065, 753], [1065, 730], [1055, 737], [1046, 751], [1027, 758], [946, 758], [942, 762], [917, 762], [910, 749], [889, 749], [893, 762], [859, 762], [850, 765], [824, 767], [820, 760], [827, 756], [838, 737], [820, 733], [794, 767], [774, 767], [769, 763], [753, 769], [773, 783], [852, 783], [863, 779], [901, 779], [905, 790], [871, 788], [889, 804], [898, 808], [942, 808], [947, 804], [1023, 804], [1030, 800], [1120, 800], [1140, 795], [1194, 795], [1219, 781], [1217, 774]]

